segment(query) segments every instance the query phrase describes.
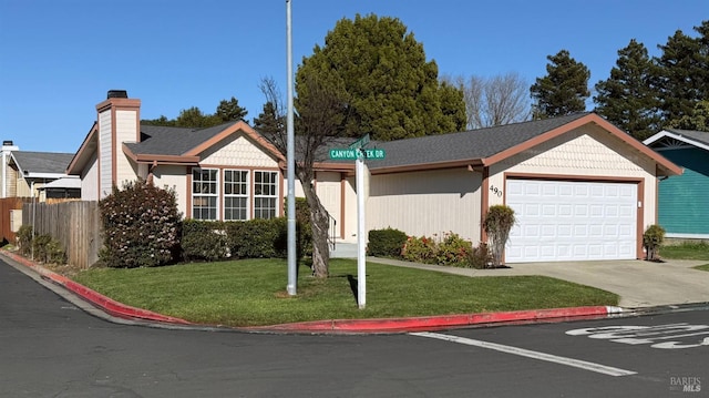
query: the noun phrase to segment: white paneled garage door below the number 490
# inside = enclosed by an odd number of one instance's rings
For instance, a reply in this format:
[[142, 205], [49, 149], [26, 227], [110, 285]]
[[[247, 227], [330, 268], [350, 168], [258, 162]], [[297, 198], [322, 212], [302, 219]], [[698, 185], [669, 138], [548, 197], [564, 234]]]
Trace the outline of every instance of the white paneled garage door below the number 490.
[[636, 258], [637, 184], [507, 180], [507, 263]]

